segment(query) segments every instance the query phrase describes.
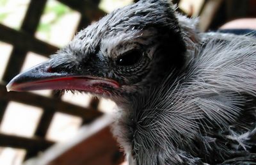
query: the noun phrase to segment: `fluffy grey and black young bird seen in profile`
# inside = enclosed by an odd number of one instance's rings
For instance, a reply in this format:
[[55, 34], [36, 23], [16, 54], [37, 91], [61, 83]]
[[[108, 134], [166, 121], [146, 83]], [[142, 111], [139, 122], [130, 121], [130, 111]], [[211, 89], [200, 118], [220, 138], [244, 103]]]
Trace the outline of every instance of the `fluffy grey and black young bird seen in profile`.
[[256, 40], [200, 32], [170, 0], [141, 0], [84, 28], [8, 91], [110, 98], [131, 165], [256, 164]]

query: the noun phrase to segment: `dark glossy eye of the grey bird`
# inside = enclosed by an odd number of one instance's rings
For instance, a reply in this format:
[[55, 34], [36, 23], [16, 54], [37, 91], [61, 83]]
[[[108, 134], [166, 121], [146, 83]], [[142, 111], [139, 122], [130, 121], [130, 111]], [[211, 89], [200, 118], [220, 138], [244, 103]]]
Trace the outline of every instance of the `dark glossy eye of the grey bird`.
[[138, 63], [141, 57], [142, 57], [142, 52], [139, 50], [127, 51], [116, 59], [116, 65], [131, 66]]

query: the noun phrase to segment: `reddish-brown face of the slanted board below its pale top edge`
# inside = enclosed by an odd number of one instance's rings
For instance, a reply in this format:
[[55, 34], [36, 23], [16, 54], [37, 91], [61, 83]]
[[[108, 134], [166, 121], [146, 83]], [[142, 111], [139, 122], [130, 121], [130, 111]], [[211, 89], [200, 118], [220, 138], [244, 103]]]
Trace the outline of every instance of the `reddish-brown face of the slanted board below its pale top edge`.
[[120, 152], [111, 128], [106, 127], [44, 165], [118, 165], [122, 162], [124, 154]]

